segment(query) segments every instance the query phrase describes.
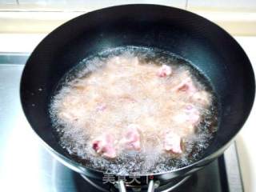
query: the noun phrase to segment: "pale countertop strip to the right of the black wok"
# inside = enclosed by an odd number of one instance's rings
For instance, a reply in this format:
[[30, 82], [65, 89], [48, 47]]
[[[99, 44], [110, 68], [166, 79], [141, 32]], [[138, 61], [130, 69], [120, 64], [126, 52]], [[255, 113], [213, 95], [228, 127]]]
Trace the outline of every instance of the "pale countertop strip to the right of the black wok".
[[[254, 68], [254, 74], [256, 74], [256, 37], [235, 38], [246, 51], [246, 54], [250, 58], [250, 62]], [[256, 146], [255, 119], [256, 105], [254, 101], [254, 106], [250, 112], [250, 116], [236, 138], [242, 171], [242, 181], [246, 192], [256, 191], [256, 150], [254, 149], [254, 146]]]

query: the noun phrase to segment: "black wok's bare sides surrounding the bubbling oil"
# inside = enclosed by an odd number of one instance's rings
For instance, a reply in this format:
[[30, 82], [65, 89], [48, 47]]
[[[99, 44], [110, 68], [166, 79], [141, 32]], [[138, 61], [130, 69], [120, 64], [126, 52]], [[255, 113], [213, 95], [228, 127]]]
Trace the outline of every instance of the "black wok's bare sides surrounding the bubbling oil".
[[[218, 158], [253, 106], [250, 61], [238, 42], [213, 22], [186, 10], [155, 5], [114, 6], [83, 14], [59, 26], [36, 47], [26, 62], [20, 94], [26, 118], [46, 148], [72, 170], [102, 179], [101, 171], [75, 162], [58, 145], [48, 107], [60, 78], [83, 58], [128, 45], [156, 47], [190, 60], [210, 79], [218, 95], [219, 125], [212, 145], [198, 162], [154, 174], [154, 179], [184, 177]], [[145, 178], [142, 175], [142, 181]]]

